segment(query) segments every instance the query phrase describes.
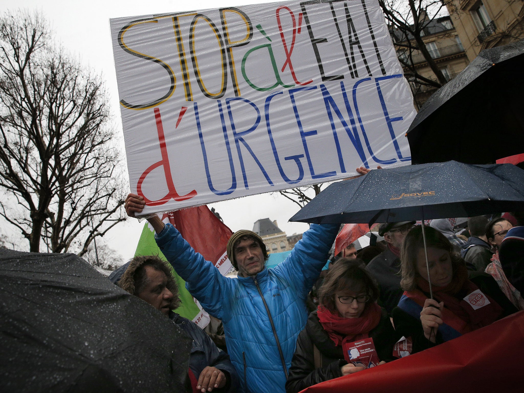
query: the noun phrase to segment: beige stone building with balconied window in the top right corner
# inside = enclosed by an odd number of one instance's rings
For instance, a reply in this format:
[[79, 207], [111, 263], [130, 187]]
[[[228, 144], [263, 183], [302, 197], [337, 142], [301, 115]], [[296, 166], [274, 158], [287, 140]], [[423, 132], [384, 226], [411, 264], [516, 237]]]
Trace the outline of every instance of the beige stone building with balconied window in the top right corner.
[[446, 7], [469, 61], [481, 50], [524, 38], [521, 0], [451, 0]]

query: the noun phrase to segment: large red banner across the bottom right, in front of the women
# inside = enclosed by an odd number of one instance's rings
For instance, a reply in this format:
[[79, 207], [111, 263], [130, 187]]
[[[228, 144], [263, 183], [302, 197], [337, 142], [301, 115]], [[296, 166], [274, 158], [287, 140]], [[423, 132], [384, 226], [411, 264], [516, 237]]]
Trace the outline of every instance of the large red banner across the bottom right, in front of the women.
[[428, 350], [313, 385], [302, 393], [521, 391], [523, 332], [524, 311], [519, 311]]

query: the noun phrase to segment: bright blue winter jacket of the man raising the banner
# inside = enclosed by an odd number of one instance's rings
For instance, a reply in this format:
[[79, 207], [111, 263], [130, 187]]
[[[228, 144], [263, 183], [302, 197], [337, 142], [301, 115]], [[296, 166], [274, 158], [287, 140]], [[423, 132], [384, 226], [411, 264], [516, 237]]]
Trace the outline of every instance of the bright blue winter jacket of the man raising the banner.
[[275, 268], [255, 277], [227, 278], [195, 253], [171, 225], [156, 235], [158, 247], [188, 291], [211, 315], [222, 320], [227, 352], [245, 392], [285, 392], [286, 375], [263, 294], [274, 322], [287, 369], [308, 313], [305, 299], [319, 277], [339, 230], [312, 224], [291, 254]]

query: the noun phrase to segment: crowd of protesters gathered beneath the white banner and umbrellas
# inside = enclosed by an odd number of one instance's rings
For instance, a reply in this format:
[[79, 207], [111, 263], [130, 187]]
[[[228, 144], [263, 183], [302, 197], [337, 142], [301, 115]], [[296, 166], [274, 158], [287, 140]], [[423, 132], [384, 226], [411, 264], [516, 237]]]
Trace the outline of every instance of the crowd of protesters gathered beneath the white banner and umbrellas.
[[[144, 202], [129, 194], [125, 206], [134, 216]], [[188, 391], [298, 392], [365, 369], [349, 349], [355, 342], [372, 339], [376, 362], [367, 367], [379, 366], [399, 357], [394, 350], [401, 340], [412, 344], [410, 353], [419, 352], [524, 309], [523, 227], [515, 216], [471, 217], [462, 234], [450, 220], [433, 220], [424, 227], [425, 248], [416, 222], [381, 224], [384, 241], [346, 247], [322, 276], [339, 225], [312, 224], [271, 269], [262, 239], [242, 230], [227, 244], [237, 278], [222, 276], [176, 228], [151, 217], [162, 253], [222, 321], [227, 353], [175, 312], [177, 288], [159, 258], [134, 258], [114, 282], [192, 337]], [[364, 262], [361, 255], [371, 250], [376, 256]], [[467, 299], [479, 293], [485, 305], [473, 307]]]

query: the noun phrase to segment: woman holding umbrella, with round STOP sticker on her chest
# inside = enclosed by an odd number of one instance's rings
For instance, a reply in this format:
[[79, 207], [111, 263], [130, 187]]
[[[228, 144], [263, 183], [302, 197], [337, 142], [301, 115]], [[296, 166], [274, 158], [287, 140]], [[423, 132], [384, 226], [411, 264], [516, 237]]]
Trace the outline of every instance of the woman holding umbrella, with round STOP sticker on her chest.
[[493, 277], [470, 272], [468, 278], [464, 260], [450, 241], [432, 227], [424, 229], [428, 265], [422, 227], [417, 226], [402, 243], [400, 285], [406, 292], [392, 312], [397, 333], [411, 336], [413, 353], [517, 312]]

